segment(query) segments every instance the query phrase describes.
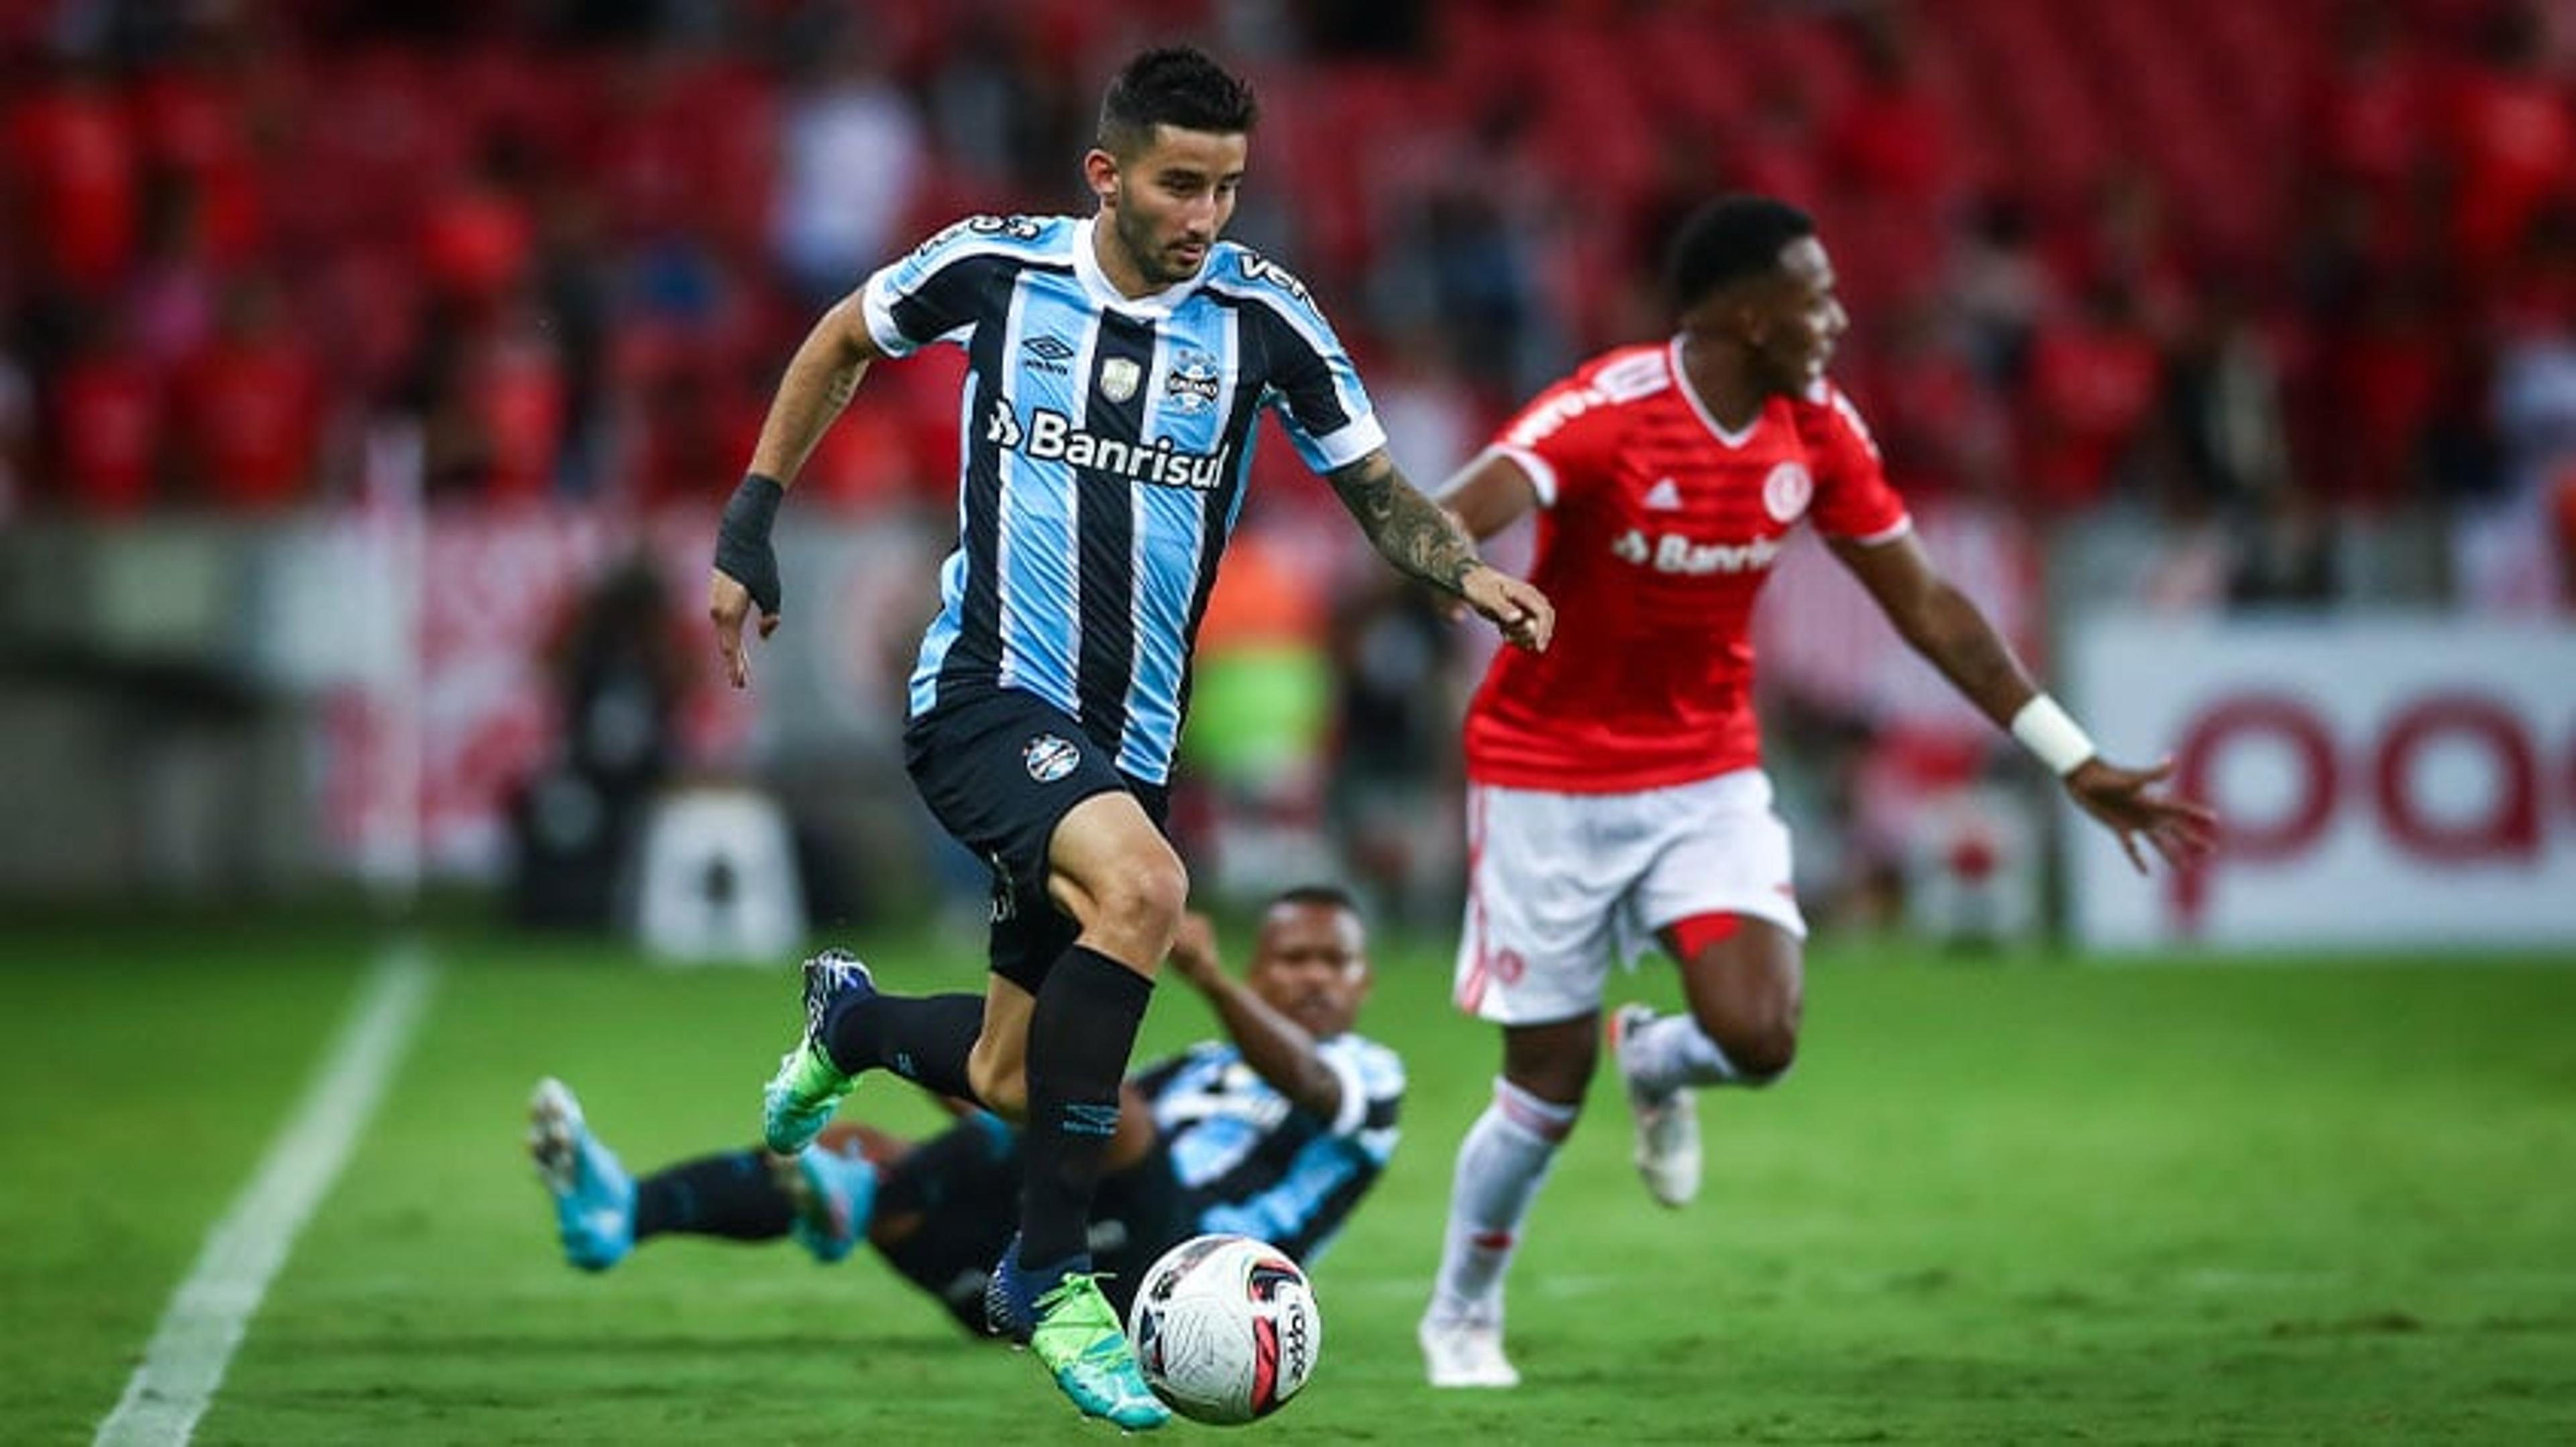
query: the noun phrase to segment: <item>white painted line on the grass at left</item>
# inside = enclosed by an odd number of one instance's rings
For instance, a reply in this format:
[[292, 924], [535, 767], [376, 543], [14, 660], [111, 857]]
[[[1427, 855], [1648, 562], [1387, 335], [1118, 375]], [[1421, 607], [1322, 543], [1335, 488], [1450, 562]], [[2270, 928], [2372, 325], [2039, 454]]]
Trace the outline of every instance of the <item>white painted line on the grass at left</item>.
[[258, 1174], [206, 1233], [196, 1267], [170, 1298], [152, 1347], [126, 1383], [126, 1396], [98, 1424], [95, 1447], [175, 1447], [196, 1432], [270, 1277], [286, 1264], [286, 1251], [322, 1192], [340, 1177], [358, 1130], [376, 1115], [376, 1097], [412, 1040], [430, 978], [430, 960], [417, 945], [392, 945], [376, 955], [296, 1112], [268, 1143]]

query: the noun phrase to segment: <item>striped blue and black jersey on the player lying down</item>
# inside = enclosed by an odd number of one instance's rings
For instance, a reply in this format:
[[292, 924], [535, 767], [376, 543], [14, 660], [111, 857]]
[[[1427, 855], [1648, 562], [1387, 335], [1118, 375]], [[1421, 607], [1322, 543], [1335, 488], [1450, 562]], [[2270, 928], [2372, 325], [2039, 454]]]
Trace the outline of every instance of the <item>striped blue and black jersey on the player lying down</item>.
[[1255, 1236], [1314, 1262], [1396, 1153], [1404, 1061], [1360, 1035], [1316, 1045], [1342, 1079], [1340, 1120], [1288, 1105], [1234, 1045], [1206, 1043], [1136, 1076], [1195, 1231]]

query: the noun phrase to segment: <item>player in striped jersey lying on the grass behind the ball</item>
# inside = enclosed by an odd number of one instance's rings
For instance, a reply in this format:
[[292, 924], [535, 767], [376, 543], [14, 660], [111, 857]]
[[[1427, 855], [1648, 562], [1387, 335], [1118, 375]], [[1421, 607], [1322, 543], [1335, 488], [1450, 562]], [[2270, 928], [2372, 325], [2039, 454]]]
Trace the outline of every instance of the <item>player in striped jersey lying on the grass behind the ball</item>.
[[[1208, 919], [1190, 914], [1172, 968], [1224, 1038], [1136, 1071], [1121, 1092], [1090, 1226], [1118, 1316], [1157, 1256], [1208, 1231], [1314, 1264], [1386, 1172], [1404, 1105], [1404, 1061], [1355, 1030], [1370, 968], [1347, 891], [1273, 899], [1242, 981]], [[930, 1141], [840, 1120], [793, 1156], [719, 1151], [636, 1179], [572, 1092], [544, 1081], [528, 1146], [574, 1267], [605, 1272], [665, 1236], [793, 1236], [824, 1264], [866, 1241], [976, 1334], [1020, 1220], [1018, 1135], [987, 1112]]]

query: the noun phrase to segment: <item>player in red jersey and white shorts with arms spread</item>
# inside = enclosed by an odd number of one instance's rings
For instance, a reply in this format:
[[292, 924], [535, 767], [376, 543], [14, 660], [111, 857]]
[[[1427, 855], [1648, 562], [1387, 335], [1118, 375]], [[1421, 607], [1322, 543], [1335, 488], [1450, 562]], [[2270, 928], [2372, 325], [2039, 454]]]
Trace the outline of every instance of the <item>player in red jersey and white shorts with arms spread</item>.
[[1924, 556], [1860, 412], [1826, 381], [1850, 324], [1814, 221], [1759, 196], [1695, 214], [1669, 260], [1680, 332], [1538, 394], [1443, 489], [1486, 538], [1538, 510], [1530, 574], [1569, 646], [1504, 651], [1466, 721], [1468, 906], [1458, 1007], [1502, 1025], [1494, 1102], [1458, 1146], [1419, 1339], [1432, 1385], [1515, 1385], [1502, 1277], [1600, 1056], [1615, 958], [1662, 945], [1687, 1014], [1623, 1007], [1610, 1048], [1664, 1205], [1700, 1184], [1690, 1089], [1770, 1084], [1798, 1048], [1788, 826], [1752, 713], [1749, 621], [1811, 520], [1896, 631], [2074, 801], [2169, 863], [2210, 845], [2172, 762], [2102, 760]]

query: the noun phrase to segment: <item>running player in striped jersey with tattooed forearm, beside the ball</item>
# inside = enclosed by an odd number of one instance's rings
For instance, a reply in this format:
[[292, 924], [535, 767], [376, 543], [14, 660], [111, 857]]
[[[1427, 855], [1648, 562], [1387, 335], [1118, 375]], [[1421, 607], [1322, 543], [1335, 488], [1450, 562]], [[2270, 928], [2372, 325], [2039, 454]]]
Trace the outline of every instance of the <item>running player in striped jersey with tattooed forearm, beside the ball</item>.
[[1159, 1426], [1164, 1408], [1092, 1280], [1084, 1213], [1188, 896], [1164, 785], [1260, 409], [1401, 572], [1522, 649], [1553, 628], [1548, 600], [1486, 566], [1388, 461], [1306, 286], [1218, 239], [1252, 121], [1252, 93], [1208, 57], [1144, 51], [1084, 154], [1092, 216], [958, 221], [824, 312], [724, 510], [708, 595], [739, 687], [744, 623], [781, 618], [770, 525], [817, 435], [878, 358], [966, 348], [958, 548], [912, 672], [904, 762], [994, 865], [992, 976], [981, 999], [899, 999], [855, 960], [817, 960], [765, 1133], [801, 1148], [878, 1066], [1025, 1117], [1020, 1236], [989, 1305], [1084, 1414], [1121, 1426]]

